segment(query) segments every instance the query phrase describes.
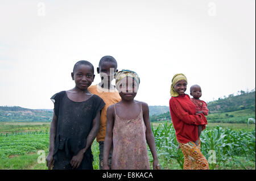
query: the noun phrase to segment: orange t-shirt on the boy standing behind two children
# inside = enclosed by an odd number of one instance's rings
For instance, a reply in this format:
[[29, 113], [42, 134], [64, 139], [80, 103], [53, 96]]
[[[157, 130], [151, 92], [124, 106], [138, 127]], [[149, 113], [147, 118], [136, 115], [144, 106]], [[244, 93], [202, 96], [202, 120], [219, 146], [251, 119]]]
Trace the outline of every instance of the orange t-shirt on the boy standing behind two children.
[[106, 135], [106, 112], [110, 105], [120, 102], [121, 97], [117, 89], [104, 89], [99, 85], [90, 86], [88, 87], [88, 90], [92, 92], [92, 94], [100, 96], [100, 98], [103, 99], [106, 104], [101, 110], [100, 129], [96, 136], [97, 142], [104, 141]]

